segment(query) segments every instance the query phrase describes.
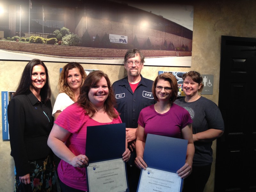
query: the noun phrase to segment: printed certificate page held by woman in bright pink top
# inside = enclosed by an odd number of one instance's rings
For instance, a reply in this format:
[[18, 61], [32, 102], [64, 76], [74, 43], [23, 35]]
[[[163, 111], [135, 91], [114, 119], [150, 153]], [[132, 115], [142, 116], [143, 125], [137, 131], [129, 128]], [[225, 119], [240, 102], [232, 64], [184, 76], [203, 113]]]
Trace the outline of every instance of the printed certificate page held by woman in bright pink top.
[[90, 192], [121, 192], [128, 188], [122, 158], [90, 164], [87, 177]]

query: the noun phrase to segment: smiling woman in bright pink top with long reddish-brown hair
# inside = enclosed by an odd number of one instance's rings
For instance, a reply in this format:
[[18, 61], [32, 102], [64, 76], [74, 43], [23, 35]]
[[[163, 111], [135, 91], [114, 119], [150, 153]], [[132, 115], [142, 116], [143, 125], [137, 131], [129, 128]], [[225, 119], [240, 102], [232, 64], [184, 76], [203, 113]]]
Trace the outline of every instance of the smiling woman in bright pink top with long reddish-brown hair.
[[[108, 76], [102, 71], [91, 72], [81, 87], [77, 102], [64, 109], [54, 122], [48, 145], [61, 158], [58, 174], [62, 191], [87, 191], [87, 126], [122, 123], [114, 101]], [[126, 142], [123, 160], [129, 158]]]

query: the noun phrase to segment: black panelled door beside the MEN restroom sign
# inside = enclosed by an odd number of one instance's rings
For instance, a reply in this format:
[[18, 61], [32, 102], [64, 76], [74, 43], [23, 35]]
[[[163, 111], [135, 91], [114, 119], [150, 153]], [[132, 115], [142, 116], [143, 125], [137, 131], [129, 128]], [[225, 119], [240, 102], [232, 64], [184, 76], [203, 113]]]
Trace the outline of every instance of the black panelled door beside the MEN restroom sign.
[[256, 191], [256, 38], [221, 37], [215, 191]]

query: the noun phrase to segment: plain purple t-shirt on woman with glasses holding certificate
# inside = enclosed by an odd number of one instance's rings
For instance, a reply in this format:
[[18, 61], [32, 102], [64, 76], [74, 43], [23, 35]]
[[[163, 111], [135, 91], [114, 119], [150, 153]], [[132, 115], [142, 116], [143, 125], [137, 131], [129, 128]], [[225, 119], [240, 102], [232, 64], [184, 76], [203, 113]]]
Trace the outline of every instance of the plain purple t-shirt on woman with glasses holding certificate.
[[157, 113], [154, 105], [143, 108], [138, 120], [146, 136], [150, 133], [179, 139], [182, 139], [181, 129], [192, 122], [188, 111], [174, 103], [164, 114]]

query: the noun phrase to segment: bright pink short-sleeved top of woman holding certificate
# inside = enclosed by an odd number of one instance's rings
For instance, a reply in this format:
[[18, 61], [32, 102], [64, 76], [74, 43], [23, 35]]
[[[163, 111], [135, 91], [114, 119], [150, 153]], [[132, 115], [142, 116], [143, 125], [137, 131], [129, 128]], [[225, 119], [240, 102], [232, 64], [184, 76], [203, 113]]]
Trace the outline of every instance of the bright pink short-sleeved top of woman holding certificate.
[[[116, 109], [114, 110], [116, 111]], [[118, 118], [113, 119], [113, 121], [110, 123], [100, 123], [84, 113], [84, 109], [78, 106], [77, 103], [74, 103], [64, 109], [54, 122], [72, 133], [66, 141], [66, 145], [76, 156], [80, 154], [85, 155], [87, 126], [122, 123], [119, 116]], [[58, 165], [58, 175], [60, 180], [69, 187], [87, 191], [86, 173], [84, 167], [73, 167], [67, 162], [61, 160], [60, 164]]]

